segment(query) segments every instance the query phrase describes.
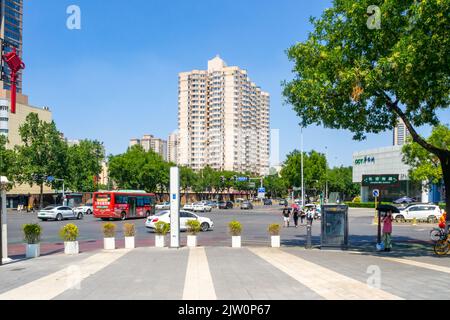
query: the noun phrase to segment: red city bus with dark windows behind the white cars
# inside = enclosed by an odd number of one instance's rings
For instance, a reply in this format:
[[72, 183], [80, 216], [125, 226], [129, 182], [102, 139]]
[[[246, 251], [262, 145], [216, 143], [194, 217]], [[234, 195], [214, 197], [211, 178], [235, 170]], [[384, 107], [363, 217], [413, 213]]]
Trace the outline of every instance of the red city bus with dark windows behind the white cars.
[[105, 191], [94, 193], [94, 217], [109, 220], [146, 218], [155, 214], [155, 194], [145, 191]]

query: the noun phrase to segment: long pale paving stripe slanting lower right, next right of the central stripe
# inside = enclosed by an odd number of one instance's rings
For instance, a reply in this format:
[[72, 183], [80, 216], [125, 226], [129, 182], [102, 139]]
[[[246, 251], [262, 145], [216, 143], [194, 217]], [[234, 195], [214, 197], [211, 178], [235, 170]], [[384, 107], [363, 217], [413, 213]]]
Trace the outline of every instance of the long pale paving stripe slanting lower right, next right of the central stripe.
[[403, 300], [279, 249], [249, 250], [327, 300]]

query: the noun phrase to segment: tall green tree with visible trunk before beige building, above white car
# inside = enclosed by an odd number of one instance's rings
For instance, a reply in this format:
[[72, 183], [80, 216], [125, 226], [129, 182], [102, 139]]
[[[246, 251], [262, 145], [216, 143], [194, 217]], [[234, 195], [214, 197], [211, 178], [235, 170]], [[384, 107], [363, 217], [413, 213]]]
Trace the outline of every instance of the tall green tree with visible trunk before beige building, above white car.
[[39, 119], [30, 113], [19, 128], [22, 145], [16, 146], [17, 161], [14, 181], [40, 186], [39, 206], [43, 205], [44, 185], [51, 186], [47, 177], [65, 177], [67, 173], [67, 143], [54, 122]]

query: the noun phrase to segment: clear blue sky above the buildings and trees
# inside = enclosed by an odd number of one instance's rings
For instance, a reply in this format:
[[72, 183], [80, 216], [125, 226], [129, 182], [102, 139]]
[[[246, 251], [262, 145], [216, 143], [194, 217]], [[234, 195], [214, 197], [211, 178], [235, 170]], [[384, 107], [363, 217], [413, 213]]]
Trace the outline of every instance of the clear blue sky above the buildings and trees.
[[[298, 118], [281, 96], [281, 82], [292, 77], [285, 50], [307, 38], [309, 17], [330, 1], [24, 2], [24, 93], [52, 109], [66, 137], [98, 139], [114, 154], [133, 137], [167, 138], [177, 128], [178, 73], [204, 69], [220, 54], [271, 94], [281, 159], [300, 147]], [[66, 28], [72, 4], [81, 8], [81, 30]], [[304, 143], [321, 152], [328, 146], [331, 165], [351, 165], [352, 152], [390, 145], [392, 133], [356, 142], [346, 131], [310, 127]]]

